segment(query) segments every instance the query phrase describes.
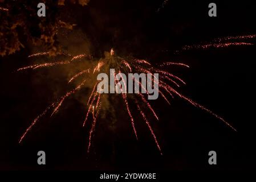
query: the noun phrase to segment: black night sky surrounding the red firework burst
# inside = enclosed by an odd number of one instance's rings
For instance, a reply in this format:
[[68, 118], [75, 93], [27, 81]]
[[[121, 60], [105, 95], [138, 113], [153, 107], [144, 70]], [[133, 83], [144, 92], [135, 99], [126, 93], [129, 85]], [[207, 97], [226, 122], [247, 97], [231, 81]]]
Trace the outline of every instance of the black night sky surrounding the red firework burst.
[[[208, 16], [210, 1], [99, 1], [87, 7], [70, 5], [68, 20], [77, 24], [97, 57], [113, 47], [120, 55], [158, 61], [178, 60], [190, 69], [174, 73], [188, 84], [180, 90], [221, 115], [234, 132], [212, 115], [174, 99], [169, 106], [153, 106], [160, 121], [152, 120], [164, 155], [160, 155], [147, 126], [136, 119], [136, 141], [123, 106], [115, 107], [119, 120], [99, 119], [90, 154], [89, 127], [82, 128], [84, 105], [70, 98], [55, 117], [40, 120], [22, 144], [19, 137], [32, 120], [54, 100], [63, 75], [51, 79], [47, 71], [14, 73], [31, 64], [30, 49], [1, 58], [0, 169], [253, 169], [255, 168], [255, 46], [175, 51], [187, 44], [220, 36], [255, 34], [253, 1], [214, 1], [217, 17]], [[65, 8], [63, 8], [65, 10]], [[63, 11], [64, 11], [63, 10]], [[255, 43], [255, 39], [253, 40]], [[32, 78], [39, 75], [39, 81]], [[53, 81], [53, 82], [52, 82]], [[150, 117], [149, 117], [150, 118]], [[46, 166], [36, 163], [46, 152]], [[208, 164], [208, 152], [217, 152], [217, 165]]]

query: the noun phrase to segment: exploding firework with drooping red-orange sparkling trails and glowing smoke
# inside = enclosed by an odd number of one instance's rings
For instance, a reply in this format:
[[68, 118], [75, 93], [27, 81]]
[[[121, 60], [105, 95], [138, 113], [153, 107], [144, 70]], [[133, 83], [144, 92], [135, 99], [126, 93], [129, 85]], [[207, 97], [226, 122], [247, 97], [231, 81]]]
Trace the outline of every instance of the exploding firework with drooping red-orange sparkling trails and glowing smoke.
[[[230, 46], [228, 43], [221, 43], [224, 40], [237, 40], [237, 39], [251, 39], [255, 38], [255, 35], [250, 35], [250, 36], [236, 36], [236, 37], [226, 37], [226, 38], [220, 38], [220, 39], [215, 39], [213, 44], [210, 44], [213, 47], [225, 47], [225, 46]], [[222, 45], [222, 46], [217, 46], [217, 45]], [[242, 46], [243, 43], [234, 43], [235, 46]], [[198, 45], [198, 46], [193, 46], [190, 48], [204, 48], [208, 47], [206, 45]], [[48, 68], [48, 67], [54, 67], [58, 65], [67, 65], [67, 64], [72, 64], [76, 61], [92, 61], [93, 57], [90, 55], [77, 55], [77, 56], [71, 56], [68, 55], [67, 53], [58, 53], [59, 55], [65, 55], [68, 57], [67, 60], [62, 60], [62, 61], [55, 61], [51, 63], [44, 63], [44, 64], [35, 64], [35, 65], [30, 65], [24, 68], [19, 68], [17, 71], [25, 71], [27, 69], [39, 69], [39, 68]], [[31, 55], [29, 57], [38, 57], [38, 56], [44, 56], [48, 55], [48, 52], [43, 52], [43, 53], [36, 53], [34, 55]], [[161, 64], [156, 64], [153, 65], [149, 63], [147, 60], [141, 60], [141, 59], [136, 59], [135, 57], [119, 57], [116, 56], [115, 52], [113, 49], [111, 49], [110, 52], [105, 53], [104, 59], [100, 60], [94, 60], [92, 61], [93, 64], [90, 65], [91, 67], [85, 67], [83, 71], [80, 71], [78, 73], [75, 73], [72, 75], [72, 77], [68, 80], [67, 83], [70, 83], [77, 79], [78, 77], [83, 77], [84, 79], [70, 92], [67, 92], [64, 94], [64, 96], [60, 97], [59, 100], [53, 102], [50, 106], [46, 108], [46, 110], [43, 111], [43, 113], [39, 114], [38, 117], [34, 119], [34, 121], [31, 123], [31, 125], [26, 129], [25, 133], [22, 134], [22, 137], [19, 139], [19, 143], [22, 142], [22, 140], [26, 137], [27, 133], [32, 129], [32, 127], [39, 121], [40, 118], [44, 117], [46, 113], [50, 112], [51, 116], [54, 115], [55, 113], [58, 112], [59, 108], [62, 106], [63, 102], [66, 100], [67, 97], [71, 96], [72, 94], [75, 94], [78, 92], [80, 89], [83, 88], [83, 86], [87, 85], [92, 85], [91, 86], [91, 93], [90, 96], [88, 97], [88, 101], [84, 103], [87, 106], [86, 113], [84, 115], [84, 122], [83, 126], [87, 125], [87, 121], [89, 118], [92, 118], [92, 124], [91, 124], [91, 130], [90, 134], [88, 137], [88, 152], [90, 152], [90, 147], [91, 147], [91, 139], [92, 139], [92, 134], [95, 131], [95, 125], [97, 119], [100, 117], [100, 112], [101, 108], [104, 106], [104, 101], [102, 98], [104, 97], [104, 94], [100, 94], [97, 90], [97, 85], [99, 84], [99, 81], [97, 81], [96, 77], [98, 73], [109, 73], [110, 68], [114, 68], [117, 73], [148, 73], [151, 76], [153, 74], [158, 73], [159, 74], [159, 89], [157, 90], [160, 93], [160, 96], [166, 101], [167, 104], [170, 104], [170, 100], [168, 99], [169, 96], [171, 98], [178, 97], [181, 98], [182, 100], [188, 102], [189, 104], [198, 107], [201, 110], [206, 111], [207, 113], [213, 115], [213, 117], [216, 117], [225, 125], [233, 129], [234, 131], [237, 131], [233, 126], [231, 126], [229, 123], [227, 123], [222, 117], [218, 116], [217, 114], [213, 113], [213, 111], [207, 109], [206, 107], [198, 104], [197, 102], [194, 102], [188, 97], [185, 97], [183, 94], [178, 92], [177, 88], [180, 87], [180, 85], [184, 85], [185, 82], [180, 78], [172, 73], [168, 72], [165, 70], [166, 67], [169, 66], [178, 66], [178, 67], [185, 67], [189, 68], [188, 65], [184, 63], [173, 63], [173, 62], [165, 62]], [[116, 73], [115, 73], [116, 74]], [[87, 79], [88, 78], [88, 79]], [[123, 80], [123, 78], [121, 78]], [[133, 79], [134, 80], [134, 79]], [[155, 82], [155, 78], [153, 79]], [[117, 82], [117, 80], [115, 80]], [[135, 110], [132, 110], [131, 108], [131, 103], [136, 105], [137, 112], [140, 113], [141, 119], [145, 122], [145, 124], [148, 126], [149, 131], [151, 132], [152, 138], [156, 143], [156, 147], [160, 151], [160, 154], [162, 154], [160, 144], [157, 140], [157, 137], [151, 127], [151, 123], [148, 120], [148, 114], [146, 113], [151, 113], [153, 117], [158, 121], [159, 116], [157, 115], [156, 111], [153, 109], [149, 101], [146, 100], [145, 96], [148, 96], [149, 93], [147, 92], [146, 88], [144, 88], [143, 84], [141, 84], [141, 81], [134, 82], [134, 84], [140, 85], [141, 91], [143, 90], [144, 92], [139, 92], [137, 94], [127, 94], [127, 93], [122, 93], [121, 97], [116, 97], [121, 98], [124, 102], [124, 109], [127, 111], [127, 114], [129, 116], [129, 120], [131, 122], [131, 127], [133, 130], [133, 133], [135, 134], [136, 139], [137, 137], [137, 131], [136, 131], [136, 123], [135, 119], [133, 118], [133, 113]], [[125, 85], [126, 89], [127, 85]], [[121, 88], [121, 87], [120, 87]], [[121, 88], [123, 89], [123, 88]], [[103, 96], [101, 96], [103, 95]], [[141, 106], [145, 106], [144, 109]], [[91, 116], [91, 117], [89, 117]]]

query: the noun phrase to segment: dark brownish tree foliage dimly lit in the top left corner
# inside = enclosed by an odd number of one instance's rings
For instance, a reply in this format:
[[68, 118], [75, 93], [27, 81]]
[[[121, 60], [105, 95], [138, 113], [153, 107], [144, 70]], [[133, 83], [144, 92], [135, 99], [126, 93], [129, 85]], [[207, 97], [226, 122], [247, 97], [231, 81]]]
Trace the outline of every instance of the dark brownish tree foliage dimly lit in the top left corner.
[[43, 46], [50, 55], [55, 55], [59, 49], [56, 42], [58, 29], [64, 27], [72, 30], [75, 26], [61, 19], [63, 7], [71, 3], [85, 6], [89, 1], [40, 1], [46, 5], [46, 17], [39, 17], [37, 15], [39, 1], [0, 0], [0, 55], [10, 55], [25, 48], [27, 43]]

